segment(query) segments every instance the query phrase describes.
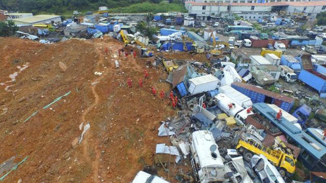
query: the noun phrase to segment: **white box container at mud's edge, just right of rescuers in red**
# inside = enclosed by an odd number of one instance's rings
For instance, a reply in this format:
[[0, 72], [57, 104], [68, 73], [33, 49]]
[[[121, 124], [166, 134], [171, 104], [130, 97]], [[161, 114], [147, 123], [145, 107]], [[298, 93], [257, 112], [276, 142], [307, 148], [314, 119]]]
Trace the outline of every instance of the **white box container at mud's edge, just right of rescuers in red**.
[[218, 87], [220, 80], [211, 74], [189, 79], [188, 92], [191, 94], [200, 94], [214, 90]]

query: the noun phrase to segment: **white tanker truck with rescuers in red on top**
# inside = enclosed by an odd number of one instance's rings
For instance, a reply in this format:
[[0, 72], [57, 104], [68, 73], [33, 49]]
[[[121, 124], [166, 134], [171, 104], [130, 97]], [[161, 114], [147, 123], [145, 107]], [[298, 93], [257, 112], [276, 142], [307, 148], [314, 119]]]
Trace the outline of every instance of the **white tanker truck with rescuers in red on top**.
[[218, 100], [218, 107], [229, 116], [234, 117], [238, 125], [244, 125], [244, 120], [248, 115], [254, 114], [250, 108], [244, 109], [225, 94], [218, 94], [215, 98]]

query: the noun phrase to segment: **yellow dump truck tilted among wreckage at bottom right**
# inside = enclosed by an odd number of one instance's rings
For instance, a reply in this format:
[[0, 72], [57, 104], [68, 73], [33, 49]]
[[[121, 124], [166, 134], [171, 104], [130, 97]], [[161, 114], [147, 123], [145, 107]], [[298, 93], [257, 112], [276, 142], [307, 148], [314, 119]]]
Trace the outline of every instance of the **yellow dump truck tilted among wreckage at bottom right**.
[[237, 146], [243, 152], [244, 159], [250, 160], [253, 154], [264, 155], [270, 162], [280, 168], [280, 174], [285, 175], [285, 170], [292, 174], [295, 171], [296, 160], [293, 156], [287, 155], [282, 151], [275, 151], [263, 146], [253, 139], [240, 139]]

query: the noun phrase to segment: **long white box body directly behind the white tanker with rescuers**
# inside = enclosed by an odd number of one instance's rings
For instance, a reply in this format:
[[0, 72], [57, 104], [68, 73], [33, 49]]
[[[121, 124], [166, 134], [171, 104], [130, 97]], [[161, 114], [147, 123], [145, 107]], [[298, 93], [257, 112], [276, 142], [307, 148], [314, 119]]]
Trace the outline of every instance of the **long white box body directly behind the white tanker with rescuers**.
[[243, 95], [238, 90], [234, 89], [229, 85], [224, 85], [219, 87], [219, 93], [225, 94], [230, 99], [232, 99], [235, 103], [239, 104], [243, 108], [249, 108], [253, 105], [253, 102], [249, 97]]

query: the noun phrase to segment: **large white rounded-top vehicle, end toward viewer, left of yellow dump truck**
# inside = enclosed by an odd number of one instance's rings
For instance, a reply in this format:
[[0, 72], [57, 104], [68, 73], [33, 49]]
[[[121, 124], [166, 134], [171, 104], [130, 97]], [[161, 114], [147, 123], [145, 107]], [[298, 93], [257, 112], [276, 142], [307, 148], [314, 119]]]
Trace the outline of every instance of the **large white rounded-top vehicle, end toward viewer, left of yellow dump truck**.
[[219, 146], [215, 143], [210, 131], [199, 130], [192, 134], [191, 164], [197, 181], [201, 183], [223, 182], [225, 167], [219, 153]]

